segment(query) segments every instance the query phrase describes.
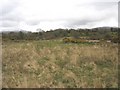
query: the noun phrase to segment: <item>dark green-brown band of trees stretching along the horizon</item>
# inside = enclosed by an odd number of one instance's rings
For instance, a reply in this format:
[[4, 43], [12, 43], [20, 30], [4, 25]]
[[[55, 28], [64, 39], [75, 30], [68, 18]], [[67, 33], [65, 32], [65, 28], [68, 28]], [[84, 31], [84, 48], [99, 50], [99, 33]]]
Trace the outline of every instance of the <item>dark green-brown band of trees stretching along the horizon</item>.
[[2, 40], [50, 40], [64, 37], [81, 38], [92, 40], [112, 40], [118, 42], [118, 28], [99, 27], [93, 29], [55, 29], [50, 31], [40, 30], [38, 32], [2, 32]]

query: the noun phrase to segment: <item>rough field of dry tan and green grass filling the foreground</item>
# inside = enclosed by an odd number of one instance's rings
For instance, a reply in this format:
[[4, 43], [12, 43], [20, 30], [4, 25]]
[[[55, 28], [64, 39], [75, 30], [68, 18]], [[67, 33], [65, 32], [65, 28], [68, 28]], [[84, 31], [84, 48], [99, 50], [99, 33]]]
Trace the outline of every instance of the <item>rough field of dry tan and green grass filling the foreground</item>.
[[61, 40], [3, 42], [3, 87], [118, 87], [118, 47]]

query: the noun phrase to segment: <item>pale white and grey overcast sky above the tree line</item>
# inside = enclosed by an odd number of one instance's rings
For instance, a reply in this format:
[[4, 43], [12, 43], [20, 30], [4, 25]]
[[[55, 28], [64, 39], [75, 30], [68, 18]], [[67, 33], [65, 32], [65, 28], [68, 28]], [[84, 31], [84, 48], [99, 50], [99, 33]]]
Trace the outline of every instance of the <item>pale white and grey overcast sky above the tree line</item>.
[[0, 0], [0, 31], [118, 26], [119, 0]]

